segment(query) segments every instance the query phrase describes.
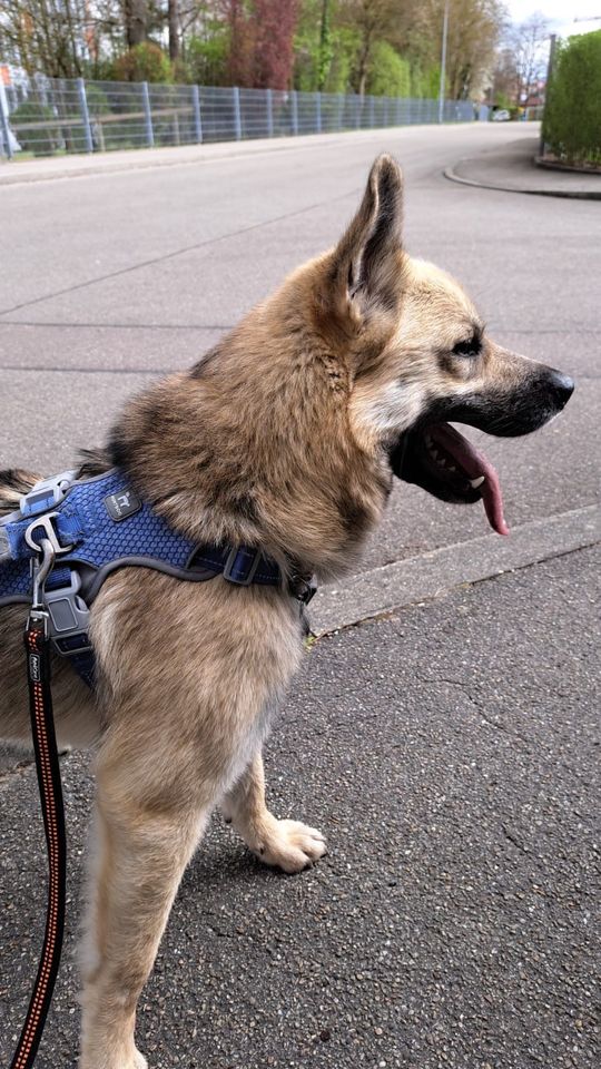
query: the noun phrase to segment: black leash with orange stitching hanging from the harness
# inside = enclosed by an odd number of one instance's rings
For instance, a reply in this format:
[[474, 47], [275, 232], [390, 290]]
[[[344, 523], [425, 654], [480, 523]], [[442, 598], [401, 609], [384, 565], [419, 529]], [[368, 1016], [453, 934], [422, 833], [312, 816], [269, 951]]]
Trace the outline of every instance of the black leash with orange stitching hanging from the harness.
[[24, 644], [31, 733], [48, 846], [49, 879], [46, 932], [38, 975], [10, 1069], [30, 1069], [36, 1060], [60, 963], [67, 874], [65, 810], [50, 692], [50, 639], [48, 616], [43, 610], [31, 611]]

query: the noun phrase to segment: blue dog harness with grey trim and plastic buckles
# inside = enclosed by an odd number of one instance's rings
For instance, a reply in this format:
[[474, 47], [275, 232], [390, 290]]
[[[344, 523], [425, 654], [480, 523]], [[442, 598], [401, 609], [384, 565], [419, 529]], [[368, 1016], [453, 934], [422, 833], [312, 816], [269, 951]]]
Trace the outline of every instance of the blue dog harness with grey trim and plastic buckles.
[[[197, 546], [175, 531], [112, 469], [90, 479], [66, 471], [38, 482], [20, 509], [0, 518], [0, 608], [31, 604], [40, 541], [49, 540], [56, 563], [43, 587], [50, 635], [93, 687], [89, 610], [105, 579], [124, 567], [152, 568], [177, 579], [204, 582], [223, 576], [237, 586], [284, 587], [278, 565], [248, 546]], [[307, 602], [315, 587], [294, 577], [289, 592]]]

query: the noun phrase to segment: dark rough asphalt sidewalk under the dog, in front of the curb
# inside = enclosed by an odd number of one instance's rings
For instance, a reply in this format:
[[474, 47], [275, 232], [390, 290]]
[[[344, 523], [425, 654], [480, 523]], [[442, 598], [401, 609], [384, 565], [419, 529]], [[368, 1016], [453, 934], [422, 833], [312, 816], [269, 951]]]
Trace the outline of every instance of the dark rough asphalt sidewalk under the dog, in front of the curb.
[[[142, 998], [150, 1069], [597, 1069], [600, 566], [569, 553], [307, 654], [269, 798], [331, 853], [285, 877], [215, 818]], [[71, 1069], [79, 1023], [82, 757], [65, 785], [68, 938], [39, 1069]], [[32, 769], [0, 804], [6, 1065], [45, 912]]]

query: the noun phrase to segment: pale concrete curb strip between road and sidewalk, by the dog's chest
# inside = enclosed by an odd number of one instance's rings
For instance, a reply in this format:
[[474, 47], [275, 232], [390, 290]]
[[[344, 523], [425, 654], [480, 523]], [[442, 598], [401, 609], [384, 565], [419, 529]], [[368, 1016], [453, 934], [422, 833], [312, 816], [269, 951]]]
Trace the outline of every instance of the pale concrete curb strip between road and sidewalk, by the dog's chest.
[[437, 598], [463, 583], [480, 582], [505, 571], [585, 549], [601, 540], [601, 506], [532, 520], [500, 539], [484, 534], [443, 546], [421, 557], [400, 560], [324, 587], [311, 606], [311, 624], [322, 636], [403, 606]]

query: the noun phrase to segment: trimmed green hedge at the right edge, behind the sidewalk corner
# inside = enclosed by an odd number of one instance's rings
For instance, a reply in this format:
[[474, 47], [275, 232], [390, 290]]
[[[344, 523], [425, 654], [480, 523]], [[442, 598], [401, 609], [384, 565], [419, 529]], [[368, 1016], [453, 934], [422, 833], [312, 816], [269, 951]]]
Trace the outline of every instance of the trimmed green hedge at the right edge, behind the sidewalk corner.
[[601, 30], [558, 43], [543, 139], [570, 164], [601, 165]]

